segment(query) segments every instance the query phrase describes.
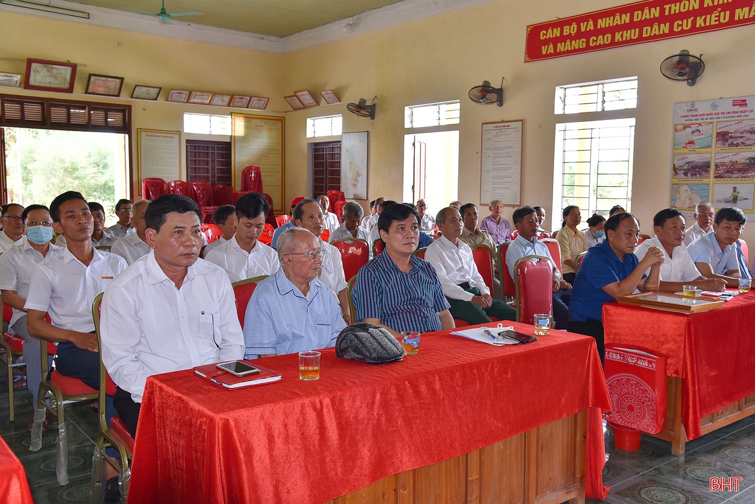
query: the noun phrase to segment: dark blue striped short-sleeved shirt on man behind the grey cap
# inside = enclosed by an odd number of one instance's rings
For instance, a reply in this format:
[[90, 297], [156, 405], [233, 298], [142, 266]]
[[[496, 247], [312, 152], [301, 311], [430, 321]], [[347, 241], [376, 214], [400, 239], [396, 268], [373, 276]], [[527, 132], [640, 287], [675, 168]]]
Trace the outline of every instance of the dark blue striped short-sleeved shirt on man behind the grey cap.
[[378, 318], [397, 333], [442, 329], [438, 314], [449, 305], [438, 275], [427, 261], [416, 256], [409, 260], [412, 267], [408, 273], [402, 272], [387, 252], [359, 269], [352, 292], [357, 320]]

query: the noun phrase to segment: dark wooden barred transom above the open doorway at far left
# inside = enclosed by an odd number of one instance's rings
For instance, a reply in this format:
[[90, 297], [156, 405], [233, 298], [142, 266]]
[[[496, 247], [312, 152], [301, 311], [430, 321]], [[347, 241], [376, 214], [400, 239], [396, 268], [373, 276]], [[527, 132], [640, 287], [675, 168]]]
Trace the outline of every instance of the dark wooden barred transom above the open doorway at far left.
[[0, 126], [131, 134], [131, 106], [0, 94]]

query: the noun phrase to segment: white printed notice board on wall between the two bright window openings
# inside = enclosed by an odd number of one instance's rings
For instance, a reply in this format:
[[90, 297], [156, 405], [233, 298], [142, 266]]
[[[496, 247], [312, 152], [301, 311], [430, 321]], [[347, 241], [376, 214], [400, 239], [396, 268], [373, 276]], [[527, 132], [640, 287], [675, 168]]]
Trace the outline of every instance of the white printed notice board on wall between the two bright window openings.
[[522, 204], [522, 143], [524, 121], [482, 123], [479, 204], [500, 199], [505, 205]]

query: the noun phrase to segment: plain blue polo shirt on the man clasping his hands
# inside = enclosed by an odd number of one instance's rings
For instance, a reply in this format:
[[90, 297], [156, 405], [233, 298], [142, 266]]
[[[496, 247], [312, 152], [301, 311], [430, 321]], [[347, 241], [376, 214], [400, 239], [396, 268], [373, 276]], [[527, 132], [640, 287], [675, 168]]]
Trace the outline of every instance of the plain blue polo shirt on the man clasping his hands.
[[614, 301], [602, 287], [624, 280], [638, 264], [634, 254], [624, 254], [624, 260], [620, 260], [608, 241], [588, 248], [574, 281], [569, 317], [577, 322], [588, 318], [602, 321], [603, 303]]

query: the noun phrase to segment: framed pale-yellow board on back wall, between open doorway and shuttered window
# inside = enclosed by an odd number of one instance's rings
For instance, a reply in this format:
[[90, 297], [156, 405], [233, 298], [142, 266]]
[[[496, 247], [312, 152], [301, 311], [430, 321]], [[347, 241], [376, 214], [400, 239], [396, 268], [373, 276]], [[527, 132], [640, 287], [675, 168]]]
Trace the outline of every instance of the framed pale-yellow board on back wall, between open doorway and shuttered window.
[[165, 182], [181, 177], [181, 134], [179, 131], [138, 128], [139, 186], [149, 177]]

